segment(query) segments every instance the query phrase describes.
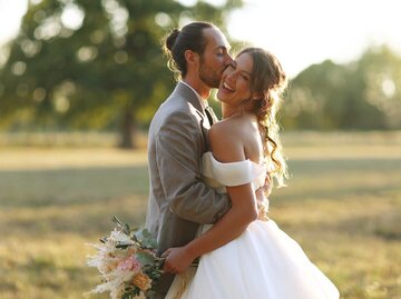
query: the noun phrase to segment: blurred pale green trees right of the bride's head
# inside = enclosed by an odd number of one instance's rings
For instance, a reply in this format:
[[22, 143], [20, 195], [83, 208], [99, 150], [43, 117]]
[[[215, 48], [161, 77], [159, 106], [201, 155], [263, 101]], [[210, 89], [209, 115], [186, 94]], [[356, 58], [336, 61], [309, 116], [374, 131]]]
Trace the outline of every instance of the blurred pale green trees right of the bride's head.
[[283, 104], [286, 129], [400, 129], [401, 58], [369, 49], [341, 66], [326, 60], [292, 80]]

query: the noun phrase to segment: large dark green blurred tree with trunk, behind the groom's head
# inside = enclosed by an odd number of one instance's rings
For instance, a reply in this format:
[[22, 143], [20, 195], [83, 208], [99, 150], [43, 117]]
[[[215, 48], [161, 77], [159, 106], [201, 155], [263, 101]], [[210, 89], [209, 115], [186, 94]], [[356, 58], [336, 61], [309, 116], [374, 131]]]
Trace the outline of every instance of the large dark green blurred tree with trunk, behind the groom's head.
[[[0, 71], [2, 124], [119, 128], [120, 146], [172, 90], [160, 39], [173, 27], [211, 20], [225, 32], [231, 9], [197, 1], [42, 0], [30, 4]], [[18, 121], [16, 119], [18, 118]]]

